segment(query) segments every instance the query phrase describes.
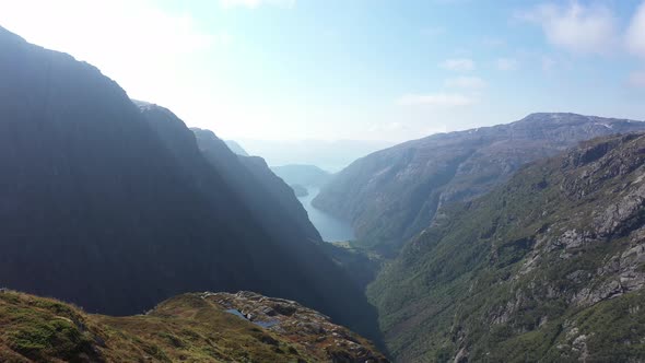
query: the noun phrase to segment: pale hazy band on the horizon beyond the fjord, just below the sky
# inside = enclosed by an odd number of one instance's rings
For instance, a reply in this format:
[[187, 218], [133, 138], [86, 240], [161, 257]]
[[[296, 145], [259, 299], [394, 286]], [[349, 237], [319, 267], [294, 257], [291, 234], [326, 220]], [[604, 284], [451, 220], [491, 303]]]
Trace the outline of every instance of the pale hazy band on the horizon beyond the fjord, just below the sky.
[[368, 140], [239, 140], [251, 155], [262, 155], [269, 165], [317, 165], [338, 172], [354, 160], [394, 143]]

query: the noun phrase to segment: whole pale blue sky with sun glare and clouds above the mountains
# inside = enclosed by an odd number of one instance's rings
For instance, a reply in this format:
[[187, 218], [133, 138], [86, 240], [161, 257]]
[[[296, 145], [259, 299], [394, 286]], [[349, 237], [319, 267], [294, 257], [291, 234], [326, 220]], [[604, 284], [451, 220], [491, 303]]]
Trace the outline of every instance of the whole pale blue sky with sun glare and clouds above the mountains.
[[642, 0], [0, 0], [0, 25], [225, 138], [645, 118]]

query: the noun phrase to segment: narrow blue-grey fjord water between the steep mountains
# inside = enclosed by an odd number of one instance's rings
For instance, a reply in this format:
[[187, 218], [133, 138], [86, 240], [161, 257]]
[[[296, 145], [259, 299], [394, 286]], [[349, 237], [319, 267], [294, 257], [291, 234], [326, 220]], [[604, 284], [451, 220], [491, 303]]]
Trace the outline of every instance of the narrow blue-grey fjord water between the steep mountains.
[[322, 239], [327, 242], [354, 239], [354, 230], [349, 223], [343, 222], [312, 206], [312, 200], [316, 198], [320, 189], [309, 187], [307, 190], [309, 191], [309, 195], [306, 197], [301, 197], [298, 200], [305, 207], [305, 210], [309, 214], [309, 220], [318, 230]]

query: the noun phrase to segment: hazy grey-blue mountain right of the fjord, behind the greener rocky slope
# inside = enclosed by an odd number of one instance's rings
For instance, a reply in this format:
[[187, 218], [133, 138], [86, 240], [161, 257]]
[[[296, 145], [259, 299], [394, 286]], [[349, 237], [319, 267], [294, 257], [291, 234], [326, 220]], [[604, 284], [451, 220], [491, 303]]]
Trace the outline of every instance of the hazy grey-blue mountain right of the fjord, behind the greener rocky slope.
[[521, 165], [579, 141], [644, 129], [631, 120], [533, 114], [508, 125], [434, 134], [355, 161], [313, 203], [351, 221], [362, 246], [396, 255], [443, 204], [481, 196]]

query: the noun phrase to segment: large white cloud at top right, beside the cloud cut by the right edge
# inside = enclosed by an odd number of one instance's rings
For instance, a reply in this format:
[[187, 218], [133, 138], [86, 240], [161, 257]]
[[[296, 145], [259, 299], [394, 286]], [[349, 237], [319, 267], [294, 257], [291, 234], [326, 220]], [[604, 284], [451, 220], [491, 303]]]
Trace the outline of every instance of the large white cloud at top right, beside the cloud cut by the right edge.
[[539, 24], [549, 43], [580, 54], [608, 54], [617, 44], [613, 13], [601, 5], [572, 1], [568, 5], [541, 4], [518, 17]]

